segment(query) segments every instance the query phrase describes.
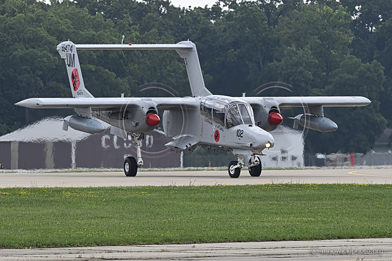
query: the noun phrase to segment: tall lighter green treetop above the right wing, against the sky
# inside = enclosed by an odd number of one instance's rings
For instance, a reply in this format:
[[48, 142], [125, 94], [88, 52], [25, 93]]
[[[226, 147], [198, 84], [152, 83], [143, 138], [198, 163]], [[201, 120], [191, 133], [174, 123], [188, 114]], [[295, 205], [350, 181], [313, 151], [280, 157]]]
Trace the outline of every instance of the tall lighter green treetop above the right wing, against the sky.
[[275, 57], [279, 59], [279, 54], [284, 54], [284, 49], [293, 45], [301, 49], [306, 47], [318, 61], [319, 75], [315, 76], [319, 81], [315, 82], [314, 87], [323, 88], [328, 84], [330, 72], [349, 53], [348, 46], [352, 39], [350, 14], [342, 6], [333, 10], [320, 3], [310, 3], [301, 4], [282, 20], [279, 32], [283, 50], [278, 49]]

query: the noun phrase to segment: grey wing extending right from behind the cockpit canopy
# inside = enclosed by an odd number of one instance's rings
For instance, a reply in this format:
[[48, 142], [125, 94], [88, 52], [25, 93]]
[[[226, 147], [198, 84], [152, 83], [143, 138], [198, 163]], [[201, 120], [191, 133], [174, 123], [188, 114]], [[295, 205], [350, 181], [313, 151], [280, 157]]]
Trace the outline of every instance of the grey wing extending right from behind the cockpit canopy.
[[238, 97], [248, 102], [252, 107], [262, 107], [265, 101], [276, 101], [280, 109], [293, 107], [357, 107], [371, 103], [368, 98], [361, 96], [312, 96], [312, 97]]

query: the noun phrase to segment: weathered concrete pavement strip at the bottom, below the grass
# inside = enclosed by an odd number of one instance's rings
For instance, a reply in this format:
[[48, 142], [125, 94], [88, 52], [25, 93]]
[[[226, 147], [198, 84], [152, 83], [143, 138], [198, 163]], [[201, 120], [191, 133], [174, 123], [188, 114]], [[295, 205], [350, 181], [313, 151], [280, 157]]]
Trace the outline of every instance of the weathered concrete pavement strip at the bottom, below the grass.
[[391, 261], [392, 238], [0, 250], [0, 261], [124, 261], [151, 259], [199, 261]]

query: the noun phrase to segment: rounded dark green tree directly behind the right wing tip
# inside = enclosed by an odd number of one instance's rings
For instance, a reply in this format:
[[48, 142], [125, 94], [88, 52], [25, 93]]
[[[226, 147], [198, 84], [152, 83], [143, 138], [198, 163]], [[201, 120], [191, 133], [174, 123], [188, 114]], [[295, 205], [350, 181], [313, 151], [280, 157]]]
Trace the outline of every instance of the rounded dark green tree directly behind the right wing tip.
[[331, 84], [325, 88], [323, 95], [363, 95], [372, 103], [366, 107], [325, 108], [325, 116], [339, 127], [332, 133], [309, 132], [307, 139], [311, 140], [315, 152], [333, 153], [339, 150], [364, 153], [373, 147], [387, 124], [379, 112], [378, 101], [384, 79], [384, 68], [379, 62], [363, 64], [355, 56], [345, 57], [340, 67], [331, 72]]

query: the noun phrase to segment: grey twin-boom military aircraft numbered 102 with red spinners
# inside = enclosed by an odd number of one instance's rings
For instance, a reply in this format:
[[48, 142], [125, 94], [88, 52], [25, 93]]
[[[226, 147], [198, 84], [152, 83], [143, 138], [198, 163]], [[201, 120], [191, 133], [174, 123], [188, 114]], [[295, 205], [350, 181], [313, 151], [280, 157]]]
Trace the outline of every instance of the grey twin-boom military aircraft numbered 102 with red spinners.
[[[174, 49], [185, 60], [191, 97], [95, 98], [84, 86], [76, 50], [167, 50]], [[228, 165], [231, 178], [240, 176], [244, 155], [249, 155], [249, 174], [258, 177], [262, 166], [259, 155], [274, 146], [269, 133], [282, 123], [280, 110], [307, 106], [307, 113], [296, 116], [294, 127], [328, 132], [338, 128], [325, 118], [323, 107], [366, 106], [370, 100], [361, 96], [323, 97], [230, 97], [212, 95], [204, 86], [196, 45], [191, 41], [178, 44], [151, 45], [75, 45], [71, 41], [57, 46], [65, 60], [72, 98], [29, 98], [16, 103], [28, 108], [74, 108], [77, 115], [64, 119], [68, 126], [87, 133], [100, 133], [105, 127], [93, 117], [111, 125], [110, 133], [123, 139], [131, 137], [137, 146], [137, 160], [124, 161], [126, 176], [136, 176], [143, 166], [141, 141], [160, 122], [164, 133], [172, 141], [166, 146], [173, 151], [194, 150], [197, 146], [213, 150], [226, 150], [238, 157]], [[164, 111], [162, 119], [159, 111]]]

